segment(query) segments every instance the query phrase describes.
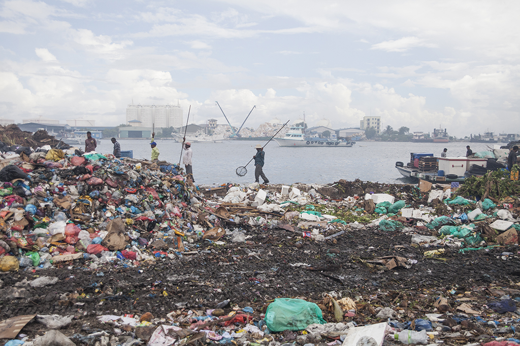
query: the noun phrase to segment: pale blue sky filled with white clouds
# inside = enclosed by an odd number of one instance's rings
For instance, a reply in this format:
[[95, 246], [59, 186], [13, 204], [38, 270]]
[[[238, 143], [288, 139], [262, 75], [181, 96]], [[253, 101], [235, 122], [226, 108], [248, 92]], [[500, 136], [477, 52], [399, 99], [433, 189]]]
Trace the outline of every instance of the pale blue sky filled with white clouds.
[[0, 118], [520, 133], [518, 1], [0, 1]]

